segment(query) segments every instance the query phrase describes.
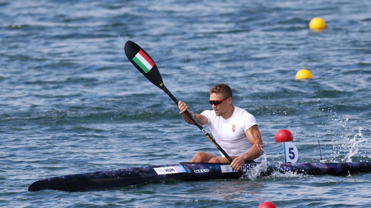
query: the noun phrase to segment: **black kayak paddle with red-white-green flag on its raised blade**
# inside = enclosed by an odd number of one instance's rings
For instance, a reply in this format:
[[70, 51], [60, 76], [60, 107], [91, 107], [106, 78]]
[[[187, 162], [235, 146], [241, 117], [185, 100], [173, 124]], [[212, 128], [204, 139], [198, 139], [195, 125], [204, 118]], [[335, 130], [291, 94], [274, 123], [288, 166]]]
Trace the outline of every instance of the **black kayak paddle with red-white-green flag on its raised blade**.
[[[162, 77], [160, 71], [152, 60], [150, 55], [143, 50], [140, 46], [138, 46], [133, 41], [127, 41], [125, 43], [125, 54], [128, 57], [129, 61], [148, 79], [156, 85], [158, 88], [163, 90], [169, 97], [178, 105], [178, 100], [170, 93], [170, 91], [165, 87], [164, 83], [162, 82]], [[204, 130], [204, 128], [193, 118], [193, 116], [187, 111], [185, 114], [197, 125], [198, 128], [206, 135], [207, 138], [215, 145], [215, 147], [220, 150], [220, 152], [228, 159], [229, 162], [232, 163], [232, 158], [219, 146], [219, 144], [211, 137], [211, 135]], [[239, 172], [244, 175], [243, 171], [240, 169]]]

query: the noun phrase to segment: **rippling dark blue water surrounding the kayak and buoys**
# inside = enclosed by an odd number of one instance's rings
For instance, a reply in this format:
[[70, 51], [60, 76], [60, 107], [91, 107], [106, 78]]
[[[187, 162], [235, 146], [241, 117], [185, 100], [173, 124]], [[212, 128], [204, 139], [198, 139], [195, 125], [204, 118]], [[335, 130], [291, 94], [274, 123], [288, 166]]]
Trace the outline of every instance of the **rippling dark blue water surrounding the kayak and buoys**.
[[[268, 162], [275, 133], [298, 162], [371, 161], [370, 1], [0, 1], [1, 207], [370, 207], [370, 174], [161, 181], [105, 191], [28, 192], [42, 178], [218, 154], [127, 60], [132, 40], [192, 111], [233, 88]], [[316, 16], [323, 32], [309, 30]], [[308, 68], [311, 80], [295, 80]]]

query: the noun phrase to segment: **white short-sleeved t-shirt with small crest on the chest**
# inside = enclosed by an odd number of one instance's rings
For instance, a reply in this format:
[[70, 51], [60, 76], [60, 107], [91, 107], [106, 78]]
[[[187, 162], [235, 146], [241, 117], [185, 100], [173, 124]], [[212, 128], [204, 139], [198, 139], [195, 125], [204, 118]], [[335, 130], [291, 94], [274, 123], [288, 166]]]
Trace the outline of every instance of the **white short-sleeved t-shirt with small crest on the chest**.
[[[240, 156], [250, 150], [252, 144], [247, 140], [245, 131], [256, 125], [253, 115], [236, 106], [227, 120], [215, 115], [213, 110], [206, 110], [201, 114], [206, 116], [211, 134], [228, 155]], [[223, 154], [221, 156], [224, 157]]]

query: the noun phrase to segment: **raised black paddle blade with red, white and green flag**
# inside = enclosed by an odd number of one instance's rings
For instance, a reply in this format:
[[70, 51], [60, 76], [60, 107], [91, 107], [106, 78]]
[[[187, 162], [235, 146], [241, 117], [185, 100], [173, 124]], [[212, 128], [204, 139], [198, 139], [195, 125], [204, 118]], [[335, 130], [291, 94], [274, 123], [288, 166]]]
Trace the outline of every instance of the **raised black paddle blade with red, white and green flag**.
[[163, 85], [162, 77], [150, 55], [148, 55], [143, 48], [138, 46], [138, 44], [130, 40], [125, 43], [124, 51], [129, 61], [137, 67], [151, 83], [161, 88]]

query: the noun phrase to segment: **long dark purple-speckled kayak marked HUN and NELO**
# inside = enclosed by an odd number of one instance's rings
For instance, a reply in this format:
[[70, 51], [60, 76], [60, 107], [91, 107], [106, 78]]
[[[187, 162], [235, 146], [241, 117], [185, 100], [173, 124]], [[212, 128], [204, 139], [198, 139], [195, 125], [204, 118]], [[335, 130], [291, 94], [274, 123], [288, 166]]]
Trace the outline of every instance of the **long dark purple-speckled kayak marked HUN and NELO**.
[[[175, 179], [182, 181], [205, 181], [215, 179], [239, 179], [240, 172], [229, 167], [229, 163], [193, 163], [154, 165], [124, 168], [46, 178], [34, 182], [28, 191], [53, 189], [60, 191], [84, 191], [88, 189], [109, 189], [151, 181]], [[295, 172], [306, 175], [354, 175], [371, 172], [371, 162], [312, 162], [312, 163], [245, 163], [244, 172], [255, 171], [258, 177], [273, 172]]]

